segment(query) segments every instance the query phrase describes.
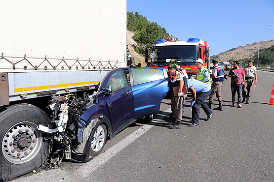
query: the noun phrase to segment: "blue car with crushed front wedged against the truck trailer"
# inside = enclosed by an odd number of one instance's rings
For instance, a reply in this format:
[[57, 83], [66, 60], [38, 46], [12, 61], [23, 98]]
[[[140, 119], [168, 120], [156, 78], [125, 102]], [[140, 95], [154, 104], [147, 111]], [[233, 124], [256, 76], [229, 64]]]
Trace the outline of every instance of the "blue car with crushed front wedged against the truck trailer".
[[[152, 67], [117, 68], [107, 74], [96, 94], [95, 104], [81, 116], [81, 145], [88, 142], [87, 153], [98, 155], [106, 143], [132, 122], [159, 113], [168, 92], [167, 72]], [[91, 129], [92, 128], [92, 129]], [[83, 133], [91, 135], [82, 136]], [[80, 151], [82, 152], [82, 151]], [[90, 156], [86, 156], [90, 158]]]

